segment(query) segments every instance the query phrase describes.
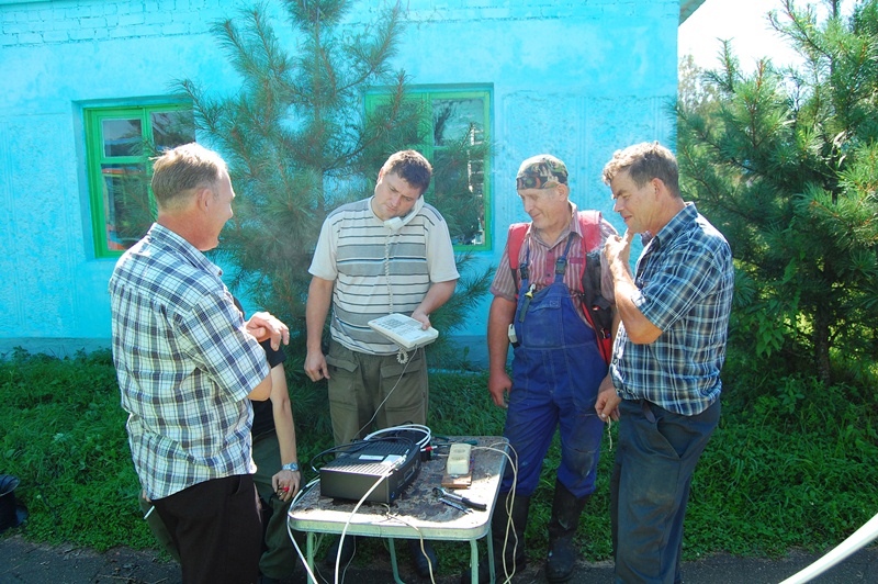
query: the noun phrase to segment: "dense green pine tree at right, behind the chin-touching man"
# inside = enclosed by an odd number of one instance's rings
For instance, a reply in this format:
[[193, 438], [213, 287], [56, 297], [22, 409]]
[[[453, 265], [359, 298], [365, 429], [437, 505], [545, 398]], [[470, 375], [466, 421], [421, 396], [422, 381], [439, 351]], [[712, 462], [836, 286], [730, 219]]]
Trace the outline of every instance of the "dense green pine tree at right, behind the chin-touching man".
[[735, 257], [733, 338], [789, 372], [878, 357], [878, 0], [770, 15], [802, 58], [744, 74], [728, 43], [717, 108], [678, 103], [683, 190]]

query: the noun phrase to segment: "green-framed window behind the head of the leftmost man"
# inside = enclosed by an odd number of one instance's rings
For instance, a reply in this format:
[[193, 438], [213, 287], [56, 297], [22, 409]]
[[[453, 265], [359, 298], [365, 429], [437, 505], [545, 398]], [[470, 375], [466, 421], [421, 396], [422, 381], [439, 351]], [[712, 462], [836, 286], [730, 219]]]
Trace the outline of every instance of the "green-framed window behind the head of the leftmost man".
[[83, 114], [94, 255], [116, 257], [155, 221], [149, 158], [195, 139], [192, 106], [90, 108]]

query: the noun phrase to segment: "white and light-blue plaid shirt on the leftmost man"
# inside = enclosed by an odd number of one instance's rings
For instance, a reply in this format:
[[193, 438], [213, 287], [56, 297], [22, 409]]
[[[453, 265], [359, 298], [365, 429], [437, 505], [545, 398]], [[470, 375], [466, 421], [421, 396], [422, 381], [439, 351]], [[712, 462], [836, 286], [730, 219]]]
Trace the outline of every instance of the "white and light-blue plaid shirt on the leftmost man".
[[247, 395], [269, 368], [221, 273], [154, 224], [110, 279], [113, 361], [149, 498], [256, 472]]

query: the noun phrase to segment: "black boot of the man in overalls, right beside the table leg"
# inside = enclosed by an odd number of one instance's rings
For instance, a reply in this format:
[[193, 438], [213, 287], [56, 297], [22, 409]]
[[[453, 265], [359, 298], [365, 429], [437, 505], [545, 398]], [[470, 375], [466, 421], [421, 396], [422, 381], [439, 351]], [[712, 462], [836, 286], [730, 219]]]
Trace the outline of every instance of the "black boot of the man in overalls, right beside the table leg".
[[[527, 566], [527, 555], [525, 555], [525, 528], [528, 525], [528, 513], [530, 512], [530, 497], [516, 496], [513, 498], [513, 510], [506, 509], [508, 493], [500, 493], [497, 505], [494, 507], [494, 515], [491, 517], [491, 541], [494, 546], [494, 571], [497, 582], [506, 582], [506, 572], [520, 572]], [[506, 528], [513, 518], [513, 525], [508, 526], [508, 538]], [[506, 543], [504, 571], [503, 547]], [[460, 576], [461, 584], [472, 584], [472, 572], [466, 570]], [[491, 582], [491, 564], [487, 558], [479, 560], [479, 584]]]

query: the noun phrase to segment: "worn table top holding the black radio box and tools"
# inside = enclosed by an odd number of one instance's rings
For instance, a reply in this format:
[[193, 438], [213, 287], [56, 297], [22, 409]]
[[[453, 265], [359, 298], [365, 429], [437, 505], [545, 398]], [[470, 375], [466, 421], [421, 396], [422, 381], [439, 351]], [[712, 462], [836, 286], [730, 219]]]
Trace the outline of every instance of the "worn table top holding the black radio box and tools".
[[[351, 515], [357, 502], [336, 501], [322, 497], [315, 485], [295, 506], [290, 507], [288, 523], [291, 529], [340, 534], [350, 520], [347, 534], [378, 537], [417, 537], [420, 532], [429, 539], [473, 540], [485, 536], [491, 524], [491, 514], [499, 491], [503, 471], [506, 468], [508, 443], [500, 436], [451, 436], [450, 441], [475, 440], [473, 447], [473, 481], [468, 488], [455, 488], [453, 493], [487, 505], [486, 510], [471, 509], [463, 513], [434, 495], [434, 487], [441, 486], [447, 458], [434, 458], [421, 462], [420, 471], [399, 497], [386, 505], [363, 503]], [[493, 450], [491, 449], [493, 448]], [[447, 448], [439, 449], [447, 453]], [[451, 490], [449, 490], [451, 491]]]

